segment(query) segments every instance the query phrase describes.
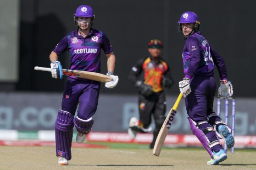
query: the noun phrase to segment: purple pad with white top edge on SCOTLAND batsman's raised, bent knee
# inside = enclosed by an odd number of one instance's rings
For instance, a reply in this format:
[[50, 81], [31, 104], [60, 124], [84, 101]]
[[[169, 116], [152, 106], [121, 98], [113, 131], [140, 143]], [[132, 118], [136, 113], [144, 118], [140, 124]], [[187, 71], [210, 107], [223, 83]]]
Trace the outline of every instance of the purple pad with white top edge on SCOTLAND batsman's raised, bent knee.
[[87, 120], [83, 120], [79, 117], [74, 118], [74, 125], [77, 128], [77, 130], [83, 134], [88, 134], [91, 131], [91, 128], [93, 126], [94, 120], [92, 117], [90, 117]]

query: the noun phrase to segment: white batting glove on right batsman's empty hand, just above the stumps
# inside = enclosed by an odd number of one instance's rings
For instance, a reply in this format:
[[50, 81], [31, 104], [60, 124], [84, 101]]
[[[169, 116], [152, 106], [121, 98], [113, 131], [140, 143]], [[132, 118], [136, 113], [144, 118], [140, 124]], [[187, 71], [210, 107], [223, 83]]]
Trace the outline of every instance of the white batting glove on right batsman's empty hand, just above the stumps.
[[221, 85], [218, 89], [218, 97], [221, 99], [228, 99], [233, 96], [233, 85], [230, 81], [221, 80]]

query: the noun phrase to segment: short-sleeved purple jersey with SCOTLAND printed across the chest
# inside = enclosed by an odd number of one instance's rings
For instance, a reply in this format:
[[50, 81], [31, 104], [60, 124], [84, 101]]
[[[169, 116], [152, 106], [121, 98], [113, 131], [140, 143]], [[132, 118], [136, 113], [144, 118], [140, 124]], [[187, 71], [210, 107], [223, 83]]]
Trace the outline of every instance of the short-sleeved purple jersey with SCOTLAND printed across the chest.
[[103, 32], [91, 29], [89, 34], [83, 37], [78, 35], [78, 30], [74, 30], [67, 34], [53, 51], [57, 55], [69, 51], [70, 69], [100, 73], [101, 48], [106, 54], [113, 51], [109, 39]]

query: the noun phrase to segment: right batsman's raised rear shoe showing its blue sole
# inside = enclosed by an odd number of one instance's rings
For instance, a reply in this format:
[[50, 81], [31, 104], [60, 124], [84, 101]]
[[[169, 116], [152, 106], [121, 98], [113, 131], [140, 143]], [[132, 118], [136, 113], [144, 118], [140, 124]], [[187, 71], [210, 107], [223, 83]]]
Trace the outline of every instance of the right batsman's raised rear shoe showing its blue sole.
[[234, 137], [231, 134], [230, 128], [226, 125], [220, 125], [218, 127], [219, 134], [224, 138], [224, 141], [228, 148], [232, 148], [234, 146]]

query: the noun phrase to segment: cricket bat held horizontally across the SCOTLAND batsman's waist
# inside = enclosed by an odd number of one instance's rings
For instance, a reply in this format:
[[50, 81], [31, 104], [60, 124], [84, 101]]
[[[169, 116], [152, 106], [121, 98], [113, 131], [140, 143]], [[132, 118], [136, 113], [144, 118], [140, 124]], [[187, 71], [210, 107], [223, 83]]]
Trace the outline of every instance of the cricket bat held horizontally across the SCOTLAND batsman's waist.
[[[40, 70], [40, 71], [49, 71], [51, 72], [51, 68], [46, 68], [46, 67], [35, 67], [35, 70]], [[63, 69], [63, 75], [72, 75], [75, 77], [83, 78], [83, 79], [88, 79], [88, 80], [95, 80], [95, 81], [100, 81], [103, 83], [109, 82], [112, 80], [112, 77], [107, 76], [105, 74], [100, 74], [100, 73], [95, 73], [95, 72], [89, 72], [89, 71], [79, 71], [79, 70], [72, 70], [72, 69]]]

